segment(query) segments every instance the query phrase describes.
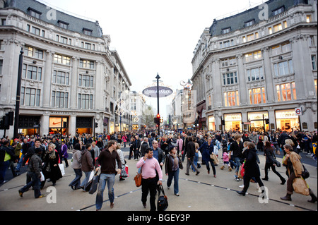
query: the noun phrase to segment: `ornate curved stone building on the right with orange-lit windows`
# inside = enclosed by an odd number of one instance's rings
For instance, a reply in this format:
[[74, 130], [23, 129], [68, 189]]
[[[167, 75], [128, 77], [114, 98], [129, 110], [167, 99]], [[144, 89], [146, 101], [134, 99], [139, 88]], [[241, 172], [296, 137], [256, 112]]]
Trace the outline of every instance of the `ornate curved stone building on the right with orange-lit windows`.
[[192, 66], [201, 127], [317, 130], [317, 1], [271, 0], [214, 20]]

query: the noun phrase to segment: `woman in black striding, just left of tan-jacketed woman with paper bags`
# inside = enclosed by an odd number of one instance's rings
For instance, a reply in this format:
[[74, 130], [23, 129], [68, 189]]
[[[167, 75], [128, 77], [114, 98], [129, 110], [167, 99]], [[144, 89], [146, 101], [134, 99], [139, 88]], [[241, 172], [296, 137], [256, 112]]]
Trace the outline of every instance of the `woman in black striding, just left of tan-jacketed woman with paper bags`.
[[265, 147], [264, 147], [264, 153], [266, 154], [266, 163], [265, 163], [265, 177], [261, 178], [264, 181], [269, 181], [269, 168], [273, 171], [274, 174], [276, 174], [279, 178], [281, 178], [281, 185], [285, 184], [286, 180], [281, 176], [281, 174], [278, 173], [275, 169], [275, 154], [273, 153], [273, 147], [271, 147], [271, 142], [266, 140]]

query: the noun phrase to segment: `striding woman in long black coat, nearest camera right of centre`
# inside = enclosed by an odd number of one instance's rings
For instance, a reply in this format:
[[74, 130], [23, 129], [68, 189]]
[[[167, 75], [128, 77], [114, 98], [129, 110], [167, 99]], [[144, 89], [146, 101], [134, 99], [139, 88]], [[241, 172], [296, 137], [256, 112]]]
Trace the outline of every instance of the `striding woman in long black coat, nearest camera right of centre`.
[[257, 150], [253, 142], [247, 144], [246, 159], [244, 164], [244, 188], [242, 191], [237, 191], [238, 194], [245, 196], [247, 189], [249, 188], [249, 181], [254, 177], [261, 190], [264, 190], [264, 184], [261, 182], [261, 172], [259, 171], [259, 165], [257, 164]]

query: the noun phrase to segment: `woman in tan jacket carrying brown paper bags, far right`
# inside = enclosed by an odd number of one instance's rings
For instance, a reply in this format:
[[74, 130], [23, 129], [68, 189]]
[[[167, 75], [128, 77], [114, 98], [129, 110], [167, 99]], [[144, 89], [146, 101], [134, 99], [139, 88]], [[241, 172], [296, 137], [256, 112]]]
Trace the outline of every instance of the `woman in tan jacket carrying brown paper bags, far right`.
[[[300, 155], [293, 151], [293, 147], [291, 145], [284, 145], [284, 151], [286, 152], [285, 157], [283, 159], [283, 165], [286, 166], [288, 172], [288, 180], [287, 180], [287, 193], [284, 197], [281, 197], [281, 200], [291, 201], [291, 195], [293, 195], [294, 187], [293, 184], [296, 185], [299, 181], [304, 184], [301, 180], [295, 180], [302, 177], [302, 163], [300, 162]], [[307, 184], [306, 184], [307, 186]], [[316, 202], [317, 197], [314, 195], [313, 191], [308, 188], [309, 194], [312, 197], [308, 202]], [[302, 193], [304, 194], [304, 193]], [[306, 194], [307, 195], [307, 194]]]

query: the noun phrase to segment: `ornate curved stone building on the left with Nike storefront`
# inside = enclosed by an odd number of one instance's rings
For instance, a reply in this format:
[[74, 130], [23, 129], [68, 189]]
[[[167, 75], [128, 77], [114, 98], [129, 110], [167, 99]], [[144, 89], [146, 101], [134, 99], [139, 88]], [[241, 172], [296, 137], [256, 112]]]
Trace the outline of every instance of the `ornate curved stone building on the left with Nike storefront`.
[[[0, 1], [0, 20], [0, 117], [16, 106], [22, 49], [19, 132], [116, 130], [117, 102], [130, 91], [131, 81], [98, 21], [34, 0]], [[129, 115], [121, 116], [122, 123], [131, 123]], [[7, 132], [12, 137], [13, 126]]]

